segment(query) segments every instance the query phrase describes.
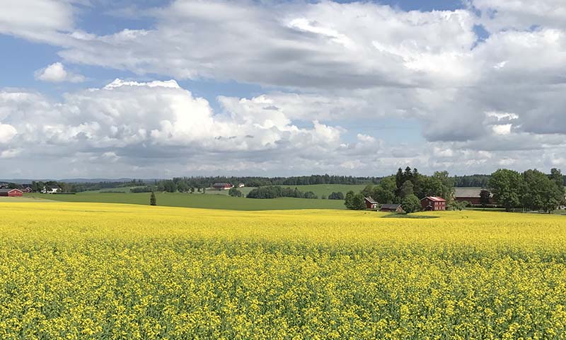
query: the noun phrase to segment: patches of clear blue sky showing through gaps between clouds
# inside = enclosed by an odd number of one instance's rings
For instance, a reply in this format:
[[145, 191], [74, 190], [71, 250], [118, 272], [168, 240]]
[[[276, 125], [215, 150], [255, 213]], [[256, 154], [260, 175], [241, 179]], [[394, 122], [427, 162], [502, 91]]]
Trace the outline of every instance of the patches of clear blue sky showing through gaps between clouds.
[[[116, 1], [115, 4], [93, 3], [90, 6], [79, 6], [76, 22], [81, 30], [96, 35], [108, 35], [124, 29], [149, 29], [155, 24], [155, 21], [149, 16], [140, 16], [132, 18], [122, 13], [124, 8], [135, 6], [139, 10], [147, 10], [152, 7], [166, 6], [171, 1], [145, 1], [138, 4], [138, 1]], [[316, 2], [316, 1], [311, 1]], [[356, 1], [336, 1], [339, 3], [354, 3]], [[402, 8], [404, 11], [444, 11], [463, 8], [461, 1], [374, 1], [378, 4], [386, 4], [395, 8]], [[6, 77], [0, 79], [0, 86], [9, 87], [25, 87], [28, 89], [37, 89], [44, 93], [50, 94], [54, 98], [58, 98], [66, 91], [80, 89], [85, 85], [88, 86], [104, 86], [116, 78], [122, 79], [142, 79], [142, 80], [168, 80], [170, 77], [164, 77], [161, 74], [146, 74], [143, 77], [128, 72], [127, 70], [107, 69], [105, 67], [89, 67], [89, 65], [73, 65], [74, 71], [83, 74], [88, 78], [83, 84], [45, 84], [33, 77], [33, 72], [37, 69], [45, 67], [45, 65], [59, 62], [61, 58], [57, 55], [58, 47], [53, 47], [45, 43], [29, 42], [27, 40], [13, 38], [9, 35], [0, 35], [1, 50], [6, 51], [3, 59], [6, 61], [0, 67], [1, 74]], [[216, 96], [238, 96], [253, 97], [265, 92], [265, 86], [255, 84], [241, 83], [238, 81], [215, 81], [214, 79], [196, 79], [196, 80], [178, 80], [180, 86], [190, 89], [195, 96], [207, 98], [214, 111], [221, 108], [216, 102]], [[268, 90], [285, 91], [285, 89], [277, 86], [267, 86]], [[345, 122], [347, 127], [355, 127], [354, 130], [348, 129], [345, 137], [347, 140], [353, 140], [357, 132], [376, 133], [379, 132], [384, 140], [395, 142], [399, 139], [399, 135], [405, 135], [412, 142], [422, 141], [419, 130], [420, 125], [417, 122], [405, 122], [393, 118], [387, 124], [371, 123], [360, 125], [358, 122]], [[355, 132], [355, 133], [354, 133]]]

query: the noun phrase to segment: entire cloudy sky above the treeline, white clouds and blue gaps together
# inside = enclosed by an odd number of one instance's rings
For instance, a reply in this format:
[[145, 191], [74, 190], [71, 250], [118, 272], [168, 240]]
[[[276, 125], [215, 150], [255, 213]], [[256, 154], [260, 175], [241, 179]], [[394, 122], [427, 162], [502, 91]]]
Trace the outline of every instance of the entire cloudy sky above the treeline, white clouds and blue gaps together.
[[[560, 166], [564, 6], [539, 2], [10, 1], [0, 165], [38, 178]], [[35, 153], [45, 168], [30, 169]]]

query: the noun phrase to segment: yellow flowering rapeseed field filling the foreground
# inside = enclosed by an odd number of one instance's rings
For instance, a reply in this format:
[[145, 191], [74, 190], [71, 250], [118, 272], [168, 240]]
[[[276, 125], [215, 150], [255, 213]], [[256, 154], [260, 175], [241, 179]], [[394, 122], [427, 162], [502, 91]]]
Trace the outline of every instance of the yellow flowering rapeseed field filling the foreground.
[[566, 218], [0, 203], [0, 339], [566, 339]]

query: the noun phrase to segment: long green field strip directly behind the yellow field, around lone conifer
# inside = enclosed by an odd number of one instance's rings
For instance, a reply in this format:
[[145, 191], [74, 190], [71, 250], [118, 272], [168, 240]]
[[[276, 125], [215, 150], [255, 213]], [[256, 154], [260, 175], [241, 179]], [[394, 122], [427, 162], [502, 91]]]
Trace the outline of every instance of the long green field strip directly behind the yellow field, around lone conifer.
[[[62, 202], [127, 203], [149, 205], [149, 193], [98, 193], [84, 192], [76, 195], [26, 194], [25, 198], [40, 198]], [[289, 210], [289, 209], [345, 209], [342, 200], [308, 200], [305, 198], [275, 198], [255, 200], [225, 195], [200, 193], [156, 193], [157, 205], [185, 208], [209, 208], [227, 210]]]

